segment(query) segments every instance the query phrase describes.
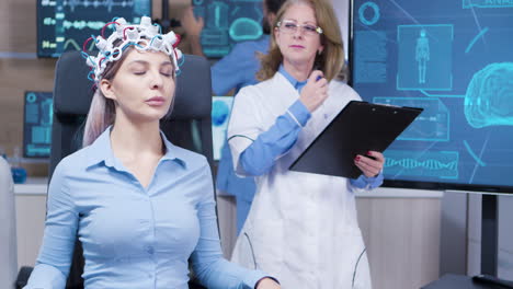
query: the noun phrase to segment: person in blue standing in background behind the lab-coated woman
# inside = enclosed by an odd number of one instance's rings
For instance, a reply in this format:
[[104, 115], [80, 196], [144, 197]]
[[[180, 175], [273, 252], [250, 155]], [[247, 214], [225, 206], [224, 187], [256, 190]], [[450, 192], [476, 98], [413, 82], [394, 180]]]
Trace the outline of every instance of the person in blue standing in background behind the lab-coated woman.
[[[212, 67], [212, 90], [215, 95], [227, 95], [231, 90], [235, 93], [250, 84], [255, 84], [256, 72], [260, 68], [259, 55], [269, 49], [270, 27], [274, 23], [276, 13], [285, 0], [263, 1], [263, 36], [258, 41], [241, 42], [233, 46], [231, 51]], [[203, 31], [203, 19], [194, 16], [193, 8], [185, 10], [181, 18], [186, 37], [191, 42], [192, 53], [203, 55], [200, 35]], [[217, 167], [217, 189], [227, 195], [236, 196], [237, 200], [237, 232], [240, 232], [253, 200], [256, 186], [253, 177], [238, 177], [231, 165], [229, 146], [225, 143], [221, 159]]]

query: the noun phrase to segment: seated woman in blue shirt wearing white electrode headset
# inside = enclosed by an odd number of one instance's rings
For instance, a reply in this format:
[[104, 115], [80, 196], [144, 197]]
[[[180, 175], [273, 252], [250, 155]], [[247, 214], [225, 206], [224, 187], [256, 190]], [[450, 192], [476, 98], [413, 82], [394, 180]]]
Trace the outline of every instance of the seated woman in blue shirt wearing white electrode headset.
[[149, 18], [110, 24], [113, 34], [95, 39], [98, 57], [86, 55], [98, 90], [84, 148], [54, 172], [25, 288], [65, 288], [77, 235], [86, 288], [185, 289], [190, 257], [208, 288], [280, 288], [262, 271], [223, 259], [208, 163], [160, 131], [182, 58], [174, 33], [161, 35]]

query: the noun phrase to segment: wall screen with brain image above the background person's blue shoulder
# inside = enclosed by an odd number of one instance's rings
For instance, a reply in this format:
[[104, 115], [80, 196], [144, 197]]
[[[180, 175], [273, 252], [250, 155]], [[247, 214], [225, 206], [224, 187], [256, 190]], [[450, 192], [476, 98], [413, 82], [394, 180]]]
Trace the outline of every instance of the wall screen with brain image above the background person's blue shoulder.
[[193, 4], [194, 15], [205, 23], [201, 42], [207, 57], [223, 57], [236, 43], [263, 34], [261, 0], [193, 0]]

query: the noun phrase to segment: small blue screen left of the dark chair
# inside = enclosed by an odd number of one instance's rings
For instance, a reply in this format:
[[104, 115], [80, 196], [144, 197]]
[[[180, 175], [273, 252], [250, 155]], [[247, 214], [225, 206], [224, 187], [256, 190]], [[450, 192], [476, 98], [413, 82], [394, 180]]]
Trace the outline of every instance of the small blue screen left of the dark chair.
[[23, 155], [49, 158], [54, 106], [52, 92], [25, 92]]

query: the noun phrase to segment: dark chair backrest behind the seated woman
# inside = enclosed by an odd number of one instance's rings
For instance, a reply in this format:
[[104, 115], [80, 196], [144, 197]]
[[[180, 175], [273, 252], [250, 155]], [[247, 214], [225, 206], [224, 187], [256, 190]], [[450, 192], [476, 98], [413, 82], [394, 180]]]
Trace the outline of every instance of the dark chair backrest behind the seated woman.
[[[50, 175], [57, 163], [81, 148], [83, 125], [93, 95], [89, 67], [79, 51], [60, 56], [55, 70]], [[174, 144], [204, 154], [213, 165], [210, 66], [198, 56], [185, 55], [176, 78], [174, 107], [161, 129]], [[82, 288], [83, 256], [77, 240], [67, 288]]]

